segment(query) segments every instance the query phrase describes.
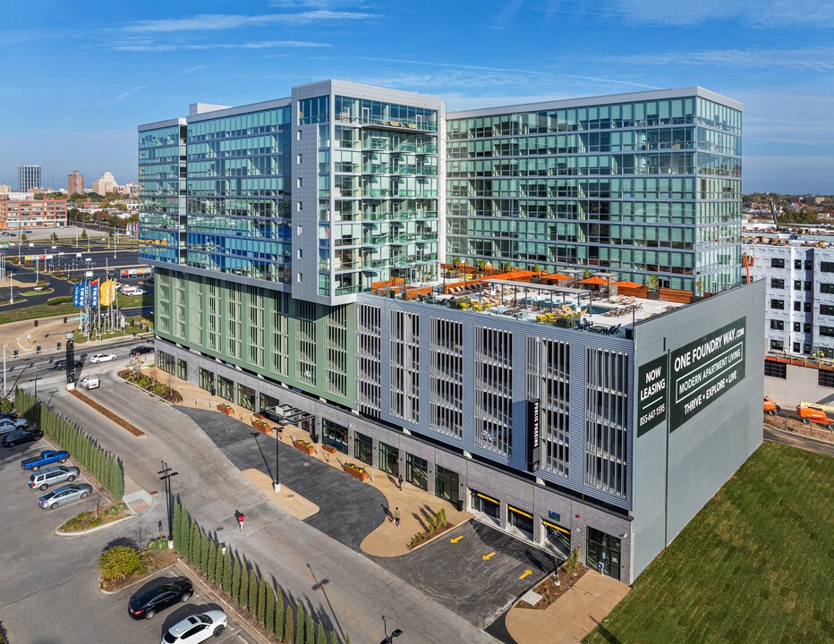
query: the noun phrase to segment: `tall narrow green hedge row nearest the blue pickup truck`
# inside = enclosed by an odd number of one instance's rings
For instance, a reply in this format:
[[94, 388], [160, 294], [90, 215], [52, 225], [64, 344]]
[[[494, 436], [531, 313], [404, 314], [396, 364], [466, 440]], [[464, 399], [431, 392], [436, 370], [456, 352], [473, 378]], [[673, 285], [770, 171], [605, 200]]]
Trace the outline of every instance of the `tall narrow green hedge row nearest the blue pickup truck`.
[[114, 453], [107, 452], [76, 423], [39, 402], [19, 386], [14, 389], [14, 407], [56, 445], [69, 452], [75, 462], [98, 479], [115, 501], [122, 500], [124, 470], [121, 460]]

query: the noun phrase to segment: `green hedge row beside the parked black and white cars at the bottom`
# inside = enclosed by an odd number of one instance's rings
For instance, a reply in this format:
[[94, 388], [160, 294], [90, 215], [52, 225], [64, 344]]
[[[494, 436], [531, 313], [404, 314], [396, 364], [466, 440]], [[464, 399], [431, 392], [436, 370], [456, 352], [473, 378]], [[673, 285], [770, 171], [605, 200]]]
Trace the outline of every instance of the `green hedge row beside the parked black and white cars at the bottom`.
[[[313, 620], [304, 605], [285, 606], [284, 593], [274, 588], [260, 572], [220, 546], [191, 519], [182, 504], [174, 503], [174, 548], [207, 580], [248, 611], [276, 641], [284, 644], [341, 644], [336, 631], [329, 638], [324, 624]], [[226, 552], [224, 552], [224, 550]], [[350, 644], [345, 635], [345, 644]]]

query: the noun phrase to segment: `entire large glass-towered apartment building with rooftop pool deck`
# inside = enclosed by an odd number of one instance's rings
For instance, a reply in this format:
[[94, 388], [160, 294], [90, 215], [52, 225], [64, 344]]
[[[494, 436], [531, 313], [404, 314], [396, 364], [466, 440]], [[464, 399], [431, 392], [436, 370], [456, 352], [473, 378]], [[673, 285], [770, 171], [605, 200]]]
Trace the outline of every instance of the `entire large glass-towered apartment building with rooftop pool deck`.
[[[689, 88], [447, 114], [327, 80], [140, 125], [157, 364], [631, 582], [761, 442], [739, 109]], [[453, 255], [518, 270], [462, 301]]]

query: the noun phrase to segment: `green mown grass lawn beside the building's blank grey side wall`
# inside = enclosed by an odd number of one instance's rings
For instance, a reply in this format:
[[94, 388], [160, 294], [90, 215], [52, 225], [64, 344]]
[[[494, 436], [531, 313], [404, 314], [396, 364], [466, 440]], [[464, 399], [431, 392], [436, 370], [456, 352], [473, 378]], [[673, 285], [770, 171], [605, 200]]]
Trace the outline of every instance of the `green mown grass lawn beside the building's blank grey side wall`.
[[586, 641], [832, 641], [832, 499], [834, 459], [763, 444]]

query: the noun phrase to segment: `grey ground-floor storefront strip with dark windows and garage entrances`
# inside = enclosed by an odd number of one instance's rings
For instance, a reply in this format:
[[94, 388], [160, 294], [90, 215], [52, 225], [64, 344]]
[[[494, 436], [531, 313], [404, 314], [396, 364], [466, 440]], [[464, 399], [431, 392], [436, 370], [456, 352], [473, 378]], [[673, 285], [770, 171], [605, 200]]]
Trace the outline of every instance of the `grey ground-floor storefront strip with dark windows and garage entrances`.
[[392, 477], [402, 476], [404, 485], [456, 504], [560, 559], [578, 549], [583, 563], [598, 569], [602, 562], [605, 574], [626, 583], [632, 580], [631, 521], [626, 516], [382, 426], [318, 397], [157, 341], [157, 364], [161, 362], [177, 365], [175, 375], [186, 375], [183, 379], [251, 411], [282, 407], [302, 411], [308, 415], [302, 429], [346, 457]]

